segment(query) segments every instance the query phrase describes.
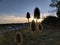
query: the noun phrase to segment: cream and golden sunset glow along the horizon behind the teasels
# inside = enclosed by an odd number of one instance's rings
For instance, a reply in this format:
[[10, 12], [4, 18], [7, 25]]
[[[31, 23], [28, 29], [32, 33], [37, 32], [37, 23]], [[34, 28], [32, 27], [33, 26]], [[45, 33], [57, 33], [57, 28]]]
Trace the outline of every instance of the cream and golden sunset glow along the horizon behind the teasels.
[[[32, 22], [32, 20], [36, 20], [33, 16], [29, 19], [29, 22]], [[42, 22], [42, 18], [38, 19], [37, 22]], [[26, 17], [17, 17], [17, 16], [0, 16], [0, 24], [4, 23], [26, 23], [28, 22], [28, 19]]]

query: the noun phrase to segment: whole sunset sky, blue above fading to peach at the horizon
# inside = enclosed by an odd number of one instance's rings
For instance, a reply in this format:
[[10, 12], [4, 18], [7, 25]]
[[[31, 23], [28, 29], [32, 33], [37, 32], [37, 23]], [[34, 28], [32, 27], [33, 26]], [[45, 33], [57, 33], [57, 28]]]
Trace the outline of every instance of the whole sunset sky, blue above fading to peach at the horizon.
[[[0, 0], [0, 24], [27, 22], [26, 13], [34, 15], [35, 7], [41, 12], [41, 18], [51, 14], [51, 0]], [[32, 19], [32, 18], [31, 18]]]

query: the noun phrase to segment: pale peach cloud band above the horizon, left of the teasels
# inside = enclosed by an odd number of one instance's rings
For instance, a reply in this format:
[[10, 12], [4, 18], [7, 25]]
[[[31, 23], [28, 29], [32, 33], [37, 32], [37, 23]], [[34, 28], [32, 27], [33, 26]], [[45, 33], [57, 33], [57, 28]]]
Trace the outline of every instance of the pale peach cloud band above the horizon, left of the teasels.
[[24, 23], [27, 19], [25, 17], [17, 16], [0, 16], [0, 24], [2, 23]]

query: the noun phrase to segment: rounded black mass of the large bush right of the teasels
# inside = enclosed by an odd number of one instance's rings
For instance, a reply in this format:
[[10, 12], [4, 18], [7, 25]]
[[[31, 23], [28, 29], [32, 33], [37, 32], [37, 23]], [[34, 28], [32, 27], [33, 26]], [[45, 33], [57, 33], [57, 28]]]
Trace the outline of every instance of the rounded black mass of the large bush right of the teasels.
[[49, 25], [49, 24], [57, 24], [58, 23], [58, 18], [55, 16], [47, 16], [43, 21], [43, 25]]

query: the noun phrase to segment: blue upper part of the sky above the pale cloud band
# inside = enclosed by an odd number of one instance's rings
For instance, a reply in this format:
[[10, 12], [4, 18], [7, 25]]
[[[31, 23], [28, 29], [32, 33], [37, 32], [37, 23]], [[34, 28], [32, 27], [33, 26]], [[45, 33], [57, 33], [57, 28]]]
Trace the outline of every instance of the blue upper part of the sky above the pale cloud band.
[[48, 13], [51, 10], [50, 3], [51, 0], [1, 0], [0, 16], [25, 17], [27, 12], [33, 15], [35, 7], [41, 13]]

